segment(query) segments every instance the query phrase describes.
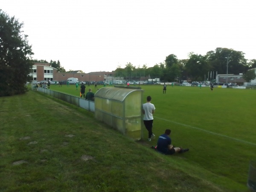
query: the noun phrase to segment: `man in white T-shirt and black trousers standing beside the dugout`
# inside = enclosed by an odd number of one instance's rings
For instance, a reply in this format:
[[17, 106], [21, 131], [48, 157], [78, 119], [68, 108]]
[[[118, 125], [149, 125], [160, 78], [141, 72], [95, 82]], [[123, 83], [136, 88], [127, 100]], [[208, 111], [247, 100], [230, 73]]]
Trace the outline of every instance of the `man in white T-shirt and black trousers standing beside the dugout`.
[[143, 104], [143, 122], [148, 130], [148, 141], [151, 141], [151, 139], [154, 139], [155, 135], [152, 132], [153, 127], [153, 113], [156, 108], [154, 107], [154, 104], [151, 103], [151, 96], [147, 96], [147, 102]]

